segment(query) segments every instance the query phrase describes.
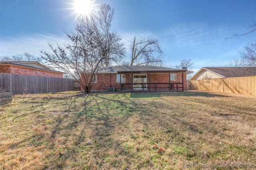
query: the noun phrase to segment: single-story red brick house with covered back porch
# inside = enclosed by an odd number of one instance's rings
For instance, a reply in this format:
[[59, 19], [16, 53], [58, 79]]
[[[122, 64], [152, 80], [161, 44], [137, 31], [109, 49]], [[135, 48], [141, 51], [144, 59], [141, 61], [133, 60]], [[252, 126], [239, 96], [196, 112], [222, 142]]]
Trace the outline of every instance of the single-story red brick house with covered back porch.
[[159, 66], [110, 66], [98, 70], [92, 91], [184, 91], [188, 73]]

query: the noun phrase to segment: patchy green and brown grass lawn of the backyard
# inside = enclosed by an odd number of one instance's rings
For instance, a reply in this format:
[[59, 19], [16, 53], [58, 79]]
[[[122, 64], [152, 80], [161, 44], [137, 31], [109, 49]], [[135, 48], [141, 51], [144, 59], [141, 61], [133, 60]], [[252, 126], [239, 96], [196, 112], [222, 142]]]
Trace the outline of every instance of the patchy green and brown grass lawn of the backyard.
[[74, 95], [0, 106], [0, 169], [256, 168], [255, 96]]

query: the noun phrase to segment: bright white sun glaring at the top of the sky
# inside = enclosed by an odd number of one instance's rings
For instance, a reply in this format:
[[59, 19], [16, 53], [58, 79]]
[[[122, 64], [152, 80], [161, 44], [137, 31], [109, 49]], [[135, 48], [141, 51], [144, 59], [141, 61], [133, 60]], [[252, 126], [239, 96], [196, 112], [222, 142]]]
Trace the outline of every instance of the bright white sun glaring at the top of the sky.
[[75, 12], [80, 15], [88, 15], [93, 9], [92, 0], [74, 0], [74, 9]]

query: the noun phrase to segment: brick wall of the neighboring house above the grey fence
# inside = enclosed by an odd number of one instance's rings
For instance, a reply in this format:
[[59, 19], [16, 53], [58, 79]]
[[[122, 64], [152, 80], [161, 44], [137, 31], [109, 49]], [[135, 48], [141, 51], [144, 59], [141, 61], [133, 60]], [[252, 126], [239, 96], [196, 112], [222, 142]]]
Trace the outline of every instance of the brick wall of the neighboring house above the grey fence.
[[26, 68], [21, 66], [12, 66], [12, 65], [0, 66], [0, 72], [10, 73], [10, 74], [23, 74], [23, 75], [31, 75], [31, 76], [47, 76], [47, 77], [63, 78], [63, 73], [39, 70], [34, 68]]

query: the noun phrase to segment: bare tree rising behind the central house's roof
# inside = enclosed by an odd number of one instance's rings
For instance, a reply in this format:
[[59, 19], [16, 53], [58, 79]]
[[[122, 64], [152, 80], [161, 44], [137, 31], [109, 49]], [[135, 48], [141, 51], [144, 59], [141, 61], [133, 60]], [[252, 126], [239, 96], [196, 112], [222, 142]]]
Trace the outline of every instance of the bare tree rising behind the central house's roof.
[[134, 36], [130, 51], [130, 65], [163, 65], [163, 52], [158, 40], [153, 38], [140, 38]]

